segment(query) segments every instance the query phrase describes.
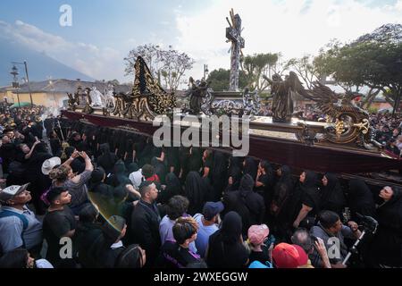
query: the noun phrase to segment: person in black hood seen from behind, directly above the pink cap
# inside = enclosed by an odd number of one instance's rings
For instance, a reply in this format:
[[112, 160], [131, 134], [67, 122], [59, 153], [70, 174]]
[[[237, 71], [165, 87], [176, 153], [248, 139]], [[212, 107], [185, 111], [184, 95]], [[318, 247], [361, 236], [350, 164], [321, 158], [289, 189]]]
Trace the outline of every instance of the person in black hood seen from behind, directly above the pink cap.
[[253, 191], [254, 184], [253, 178], [245, 174], [240, 181], [239, 189], [227, 193], [223, 198], [225, 209], [240, 214], [243, 222], [242, 233], [245, 236], [251, 225], [259, 225], [264, 221], [264, 198]]

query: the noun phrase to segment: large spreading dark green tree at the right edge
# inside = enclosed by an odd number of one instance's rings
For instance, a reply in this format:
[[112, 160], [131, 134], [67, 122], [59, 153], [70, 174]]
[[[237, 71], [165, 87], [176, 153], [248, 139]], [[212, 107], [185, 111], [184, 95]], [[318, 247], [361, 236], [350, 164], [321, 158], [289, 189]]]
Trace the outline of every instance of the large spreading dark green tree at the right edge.
[[397, 112], [402, 96], [402, 25], [387, 24], [320, 55], [325, 70], [347, 86], [371, 88], [365, 103], [380, 91]]

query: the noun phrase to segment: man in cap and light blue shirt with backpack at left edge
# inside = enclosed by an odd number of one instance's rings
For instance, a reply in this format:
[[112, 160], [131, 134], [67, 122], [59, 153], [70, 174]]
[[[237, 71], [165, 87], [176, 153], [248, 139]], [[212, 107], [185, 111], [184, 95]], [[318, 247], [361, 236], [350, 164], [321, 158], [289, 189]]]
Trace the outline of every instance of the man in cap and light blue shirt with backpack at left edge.
[[3, 253], [26, 248], [38, 257], [42, 248], [42, 223], [26, 204], [31, 200], [29, 186], [10, 186], [0, 190], [0, 247]]

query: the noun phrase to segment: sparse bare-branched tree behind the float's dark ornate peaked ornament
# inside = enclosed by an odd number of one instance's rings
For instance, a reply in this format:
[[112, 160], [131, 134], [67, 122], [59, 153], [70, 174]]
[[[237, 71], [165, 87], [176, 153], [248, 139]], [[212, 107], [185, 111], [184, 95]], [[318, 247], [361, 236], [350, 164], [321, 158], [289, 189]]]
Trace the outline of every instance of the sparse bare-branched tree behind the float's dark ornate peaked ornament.
[[180, 53], [172, 49], [172, 46], [169, 46], [168, 50], [163, 50], [160, 46], [148, 44], [131, 50], [124, 58], [126, 75], [134, 73], [138, 55], [144, 58], [154, 78], [160, 84], [163, 78], [165, 88], [171, 90], [179, 87], [180, 79], [185, 71], [192, 69], [195, 63], [186, 53]]

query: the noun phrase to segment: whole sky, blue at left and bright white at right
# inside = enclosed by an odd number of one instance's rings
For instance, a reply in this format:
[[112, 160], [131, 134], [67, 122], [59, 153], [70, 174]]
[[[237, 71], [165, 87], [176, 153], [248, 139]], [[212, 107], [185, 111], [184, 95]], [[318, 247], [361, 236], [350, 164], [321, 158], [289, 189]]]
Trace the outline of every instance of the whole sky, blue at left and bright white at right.
[[[71, 6], [71, 26], [59, 19]], [[354, 40], [402, 23], [402, 0], [2, 0], [0, 43], [12, 40], [97, 80], [133, 80], [124, 57], [138, 45], [172, 46], [196, 63], [186, 78], [230, 68], [230, 8], [242, 19], [245, 55], [317, 55], [338, 38]]]

